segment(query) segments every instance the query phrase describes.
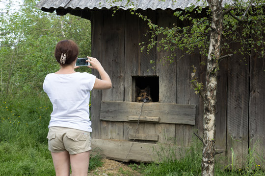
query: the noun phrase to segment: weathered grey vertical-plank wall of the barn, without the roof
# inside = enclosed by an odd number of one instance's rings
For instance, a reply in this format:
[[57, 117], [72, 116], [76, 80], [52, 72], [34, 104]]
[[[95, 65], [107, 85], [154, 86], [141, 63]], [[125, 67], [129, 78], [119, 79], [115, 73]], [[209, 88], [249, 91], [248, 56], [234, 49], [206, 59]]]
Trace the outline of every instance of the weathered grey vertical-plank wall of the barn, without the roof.
[[[164, 27], [170, 27], [173, 23], [187, 25], [172, 16], [171, 10], [145, 10], [141, 13]], [[203, 132], [203, 102], [190, 86], [191, 66], [197, 67], [200, 81], [205, 82], [206, 66], [200, 63], [206, 61], [206, 58], [199, 51], [186, 55], [185, 51], [178, 50], [174, 62], [168, 64], [162, 60], [169, 54], [167, 51], [158, 52], [153, 48], [149, 54], [146, 50], [140, 52], [139, 43], [147, 42], [150, 38], [149, 34], [144, 35], [148, 30], [147, 22], [131, 15], [129, 11], [119, 10], [114, 17], [111, 14], [112, 11], [107, 10], [91, 12], [92, 56], [100, 60], [110, 75], [113, 86], [109, 90], [92, 91], [92, 138], [102, 145], [107, 143], [115, 150], [115, 140], [120, 140], [118, 143], [121, 153], [126, 153], [128, 148], [124, 147], [130, 146], [133, 138], [144, 148], [159, 142], [189, 146], [192, 133], [198, 131], [202, 136]], [[162, 37], [159, 35], [156, 40], [159, 41]], [[232, 46], [235, 49], [237, 47], [238, 44]], [[150, 60], [156, 63], [150, 64]], [[216, 104], [216, 149], [226, 151], [222, 155], [230, 158], [230, 148], [233, 148], [238, 167], [243, 166], [248, 147], [254, 147], [256, 141], [259, 141], [256, 148], [260, 154], [264, 155], [265, 149], [264, 58], [258, 59], [255, 53], [251, 53], [250, 57], [245, 56], [245, 60], [241, 60], [242, 55], [235, 54], [220, 62]], [[96, 71], [94, 74], [99, 76]], [[176, 119], [172, 123], [163, 119], [160, 123], [157, 121], [160, 116], [145, 115], [137, 127], [137, 122], [134, 121], [137, 115], [128, 115], [128, 109], [132, 113], [134, 105], [135, 111], [141, 106], [140, 103], [130, 103], [134, 102], [135, 95], [133, 76], [158, 76], [159, 103], [151, 103], [150, 106], [154, 105], [154, 110], [157, 110], [159, 105], [164, 107], [168, 104], [169, 111], [173, 111], [170, 107], [175, 107], [176, 104], [194, 106], [194, 124], [175, 123]], [[108, 108], [110, 109], [106, 110]], [[111, 117], [113, 113], [106, 113], [111, 109], [117, 110], [120, 115]], [[229, 159], [227, 162], [231, 163]]]

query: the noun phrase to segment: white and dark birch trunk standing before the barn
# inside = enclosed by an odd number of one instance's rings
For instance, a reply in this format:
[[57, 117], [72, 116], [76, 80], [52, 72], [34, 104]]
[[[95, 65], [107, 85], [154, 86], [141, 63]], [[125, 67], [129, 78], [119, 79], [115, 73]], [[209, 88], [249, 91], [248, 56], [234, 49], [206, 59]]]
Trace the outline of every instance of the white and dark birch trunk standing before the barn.
[[220, 56], [222, 35], [222, 0], [207, 0], [212, 10], [211, 36], [207, 58], [206, 90], [204, 93], [202, 176], [214, 176], [215, 105], [217, 86], [217, 59]]

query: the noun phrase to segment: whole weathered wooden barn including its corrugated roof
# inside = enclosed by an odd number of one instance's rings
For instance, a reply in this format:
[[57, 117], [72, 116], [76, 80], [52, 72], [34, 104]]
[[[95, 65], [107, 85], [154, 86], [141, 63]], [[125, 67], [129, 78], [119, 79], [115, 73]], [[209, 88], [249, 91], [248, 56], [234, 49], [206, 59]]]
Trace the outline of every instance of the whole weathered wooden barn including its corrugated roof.
[[[173, 16], [189, 5], [181, 0], [136, 2], [137, 11], [160, 26], [186, 25]], [[157, 159], [153, 149], [160, 143], [182, 151], [191, 145], [193, 132], [202, 136], [203, 102], [190, 85], [192, 65], [200, 81], [205, 80], [206, 66], [200, 63], [206, 58], [199, 51], [187, 55], [178, 50], [171, 64], [163, 60], [168, 52], [156, 48], [149, 54], [141, 52], [139, 43], [150, 38], [147, 22], [124, 4], [114, 16], [106, 0], [40, 0], [37, 6], [91, 21], [92, 56], [102, 63], [113, 86], [92, 91], [92, 145], [97, 152], [116, 160], [150, 162]], [[265, 156], [265, 60], [257, 59], [256, 53], [249, 53], [243, 62], [242, 57], [234, 54], [220, 62], [216, 105], [216, 149], [231, 163], [233, 148], [239, 167], [249, 147]], [[136, 87], [148, 86], [153, 102], [135, 102]]]

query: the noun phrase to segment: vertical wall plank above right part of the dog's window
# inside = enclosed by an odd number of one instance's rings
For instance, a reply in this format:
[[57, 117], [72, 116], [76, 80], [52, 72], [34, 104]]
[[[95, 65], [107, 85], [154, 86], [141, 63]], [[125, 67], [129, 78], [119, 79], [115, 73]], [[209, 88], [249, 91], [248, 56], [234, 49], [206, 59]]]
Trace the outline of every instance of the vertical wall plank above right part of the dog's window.
[[[140, 10], [140, 13], [147, 16], [152, 22], [156, 22], [156, 12], [154, 10]], [[147, 25], [147, 21], [143, 19], [139, 19], [139, 29], [140, 29], [140, 43], [146, 42], [147, 45], [148, 40], [151, 39], [151, 34], [148, 33], [150, 31], [149, 26]], [[156, 62], [156, 47], [152, 48], [147, 54], [147, 48], [140, 52], [140, 68], [139, 73], [142, 76], [146, 75], [156, 75], [156, 69], [152, 68], [155, 65], [150, 64], [150, 61], [153, 60]]]

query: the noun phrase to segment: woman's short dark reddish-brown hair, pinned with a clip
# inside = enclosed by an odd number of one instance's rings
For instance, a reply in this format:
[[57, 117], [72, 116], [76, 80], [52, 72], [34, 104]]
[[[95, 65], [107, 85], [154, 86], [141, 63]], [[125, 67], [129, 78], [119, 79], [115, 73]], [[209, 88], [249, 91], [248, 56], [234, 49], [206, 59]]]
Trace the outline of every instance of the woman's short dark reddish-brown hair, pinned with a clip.
[[[61, 63], [61, 55], [66, 54], [65, 63]], [[79, 54], [78, 45], [72, 40], [62, 40], [56, 44], [54, 56], [56, 61], [61, 65], [69, 65], [74, 62]]]

